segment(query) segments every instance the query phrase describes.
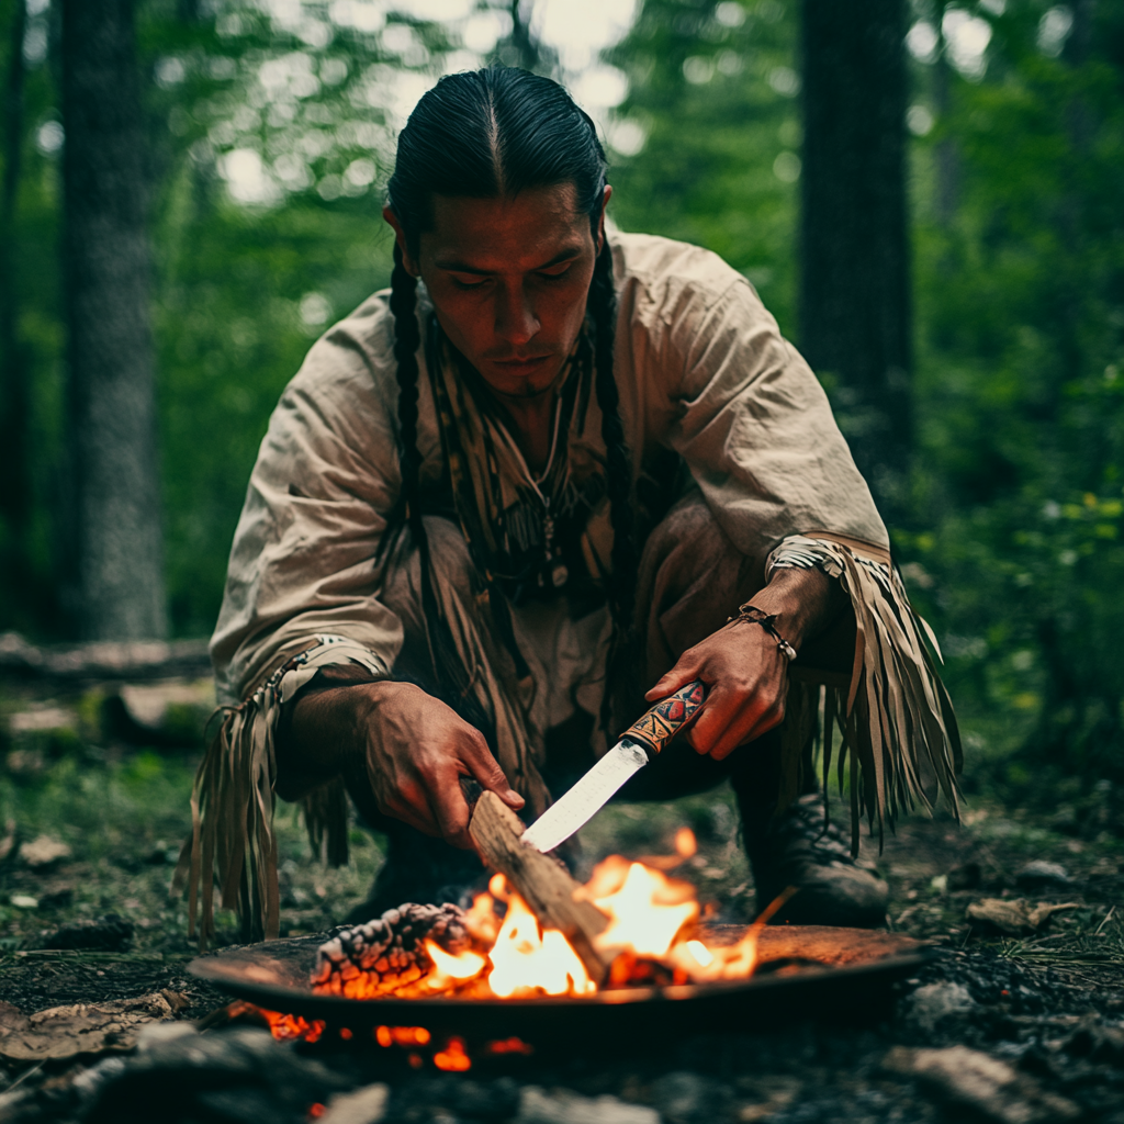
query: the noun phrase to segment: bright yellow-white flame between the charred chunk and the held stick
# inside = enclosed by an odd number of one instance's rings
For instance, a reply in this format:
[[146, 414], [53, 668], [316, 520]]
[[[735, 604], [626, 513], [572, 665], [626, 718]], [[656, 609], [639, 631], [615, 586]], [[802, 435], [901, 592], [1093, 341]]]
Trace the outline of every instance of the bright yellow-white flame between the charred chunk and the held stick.
[[590, 995], [597, 985], [570, 942], [555, 928], [545, 932], [518, 894], [507, 904], [507, 916], [488, 953], [492, 970], [488, 986], [501, 999], [514, 995]]

